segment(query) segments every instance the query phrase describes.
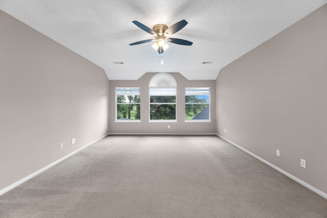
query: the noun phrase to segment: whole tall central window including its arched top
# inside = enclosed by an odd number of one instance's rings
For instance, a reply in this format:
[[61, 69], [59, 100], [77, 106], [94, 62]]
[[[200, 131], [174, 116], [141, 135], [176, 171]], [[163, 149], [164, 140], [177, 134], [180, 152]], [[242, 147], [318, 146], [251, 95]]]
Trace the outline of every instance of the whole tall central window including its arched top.
[[166, 72], [159, 72], [149, 82], [149, 122], [177, 122], [175, 78]]

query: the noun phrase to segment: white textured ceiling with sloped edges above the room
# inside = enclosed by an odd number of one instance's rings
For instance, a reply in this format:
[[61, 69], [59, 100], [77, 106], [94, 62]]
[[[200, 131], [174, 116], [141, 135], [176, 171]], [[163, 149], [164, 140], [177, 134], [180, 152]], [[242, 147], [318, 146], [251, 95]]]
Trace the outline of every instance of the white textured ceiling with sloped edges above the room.
[[[215, 80], [219, 70], [326, 4], [327, 0], [1, 0], [0, 9], [102, 67], [111, 80], [137, 80], [146, 72], [180, 72], [189, 80]], [[158, 54], [152, 28], [185, 19]], [[159, 61], [165, 64], [159, 64]], [[125, 64], [113, 64], [114, 61]], [[202, 64], [213, 61], [213, 64]]]

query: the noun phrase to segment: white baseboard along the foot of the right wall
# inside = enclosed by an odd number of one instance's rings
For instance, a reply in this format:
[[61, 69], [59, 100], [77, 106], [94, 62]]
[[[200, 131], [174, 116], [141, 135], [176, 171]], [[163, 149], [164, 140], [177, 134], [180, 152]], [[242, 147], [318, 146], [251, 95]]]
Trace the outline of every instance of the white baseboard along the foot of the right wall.
[[312, 185], [306, 183], [306, 182], [303, 181], [303, 180], [300, 180], [299, 178], [293, 176], [292, 174], [290, 174], [290, 173], [284, 171], [284, 169], [281, 169], [281, 168], [279, 168], [278, 166], [275, 166], [274, 164], [270, 163], [269, 161], [267, 161], [267, 160], [265, 160], [265, 159], [259, 157], [258, 155], [253, 154], [252, 152], [250, 152], [250, 151], [244, 149], [243, 147], [241, 147], [241, 146], [239, 146], [238, 144], [236, 144], [236, 143], [234, 143], [234, 142], [228, 140], [227, 138], [224, 138], [223, 136], [218, 135], [218, 134], [215, 134], [215, 135], [217, 135], [218, 137], [220, 137], [220, 138], [224, 139], [225, 141], [231, 143], [233, 146], [235, 146], [235, 147], [241, 149], [242, 151], [248, 153], [248, 154], [251, 155], [252, 157], [255, 157], [256, 159], [258, 159], [258, 160], [264, 162], [264, 163], [267, 164], [268, 166], [271, 166], [272, 168], [276, 169], [276, 171], [278, 171], [278, 172], [284, 174], [285, 176], [287, 176], [287, 177], [293, 179], [294, 181], [300, 183], [301, 185], [303, 185], [303, 186], [309, 188], [310, 190], [316, 192], [318, 195], [322, 196], [323, 198], [327, 199], [327, 193], [325, 193], [325, 192], [319, 190], [318, 188], [313, 187]]

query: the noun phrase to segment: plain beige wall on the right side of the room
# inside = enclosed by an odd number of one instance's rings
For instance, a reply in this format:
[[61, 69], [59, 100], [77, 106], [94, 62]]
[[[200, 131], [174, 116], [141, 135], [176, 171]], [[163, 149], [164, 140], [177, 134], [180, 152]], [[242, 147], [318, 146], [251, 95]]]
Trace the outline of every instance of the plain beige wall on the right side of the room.
[[326, 20], [324, 5], [224, 67], [216, 111], [219, 135], [325, 193]]

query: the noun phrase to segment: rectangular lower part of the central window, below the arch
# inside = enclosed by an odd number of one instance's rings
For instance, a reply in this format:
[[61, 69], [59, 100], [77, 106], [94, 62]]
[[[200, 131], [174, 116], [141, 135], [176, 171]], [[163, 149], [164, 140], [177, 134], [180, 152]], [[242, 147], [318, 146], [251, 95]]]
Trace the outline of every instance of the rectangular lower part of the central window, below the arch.
[[150, 120], [176, 120], [176, 87], [149, 89]]

